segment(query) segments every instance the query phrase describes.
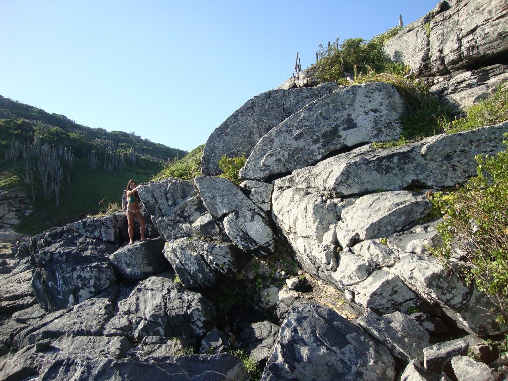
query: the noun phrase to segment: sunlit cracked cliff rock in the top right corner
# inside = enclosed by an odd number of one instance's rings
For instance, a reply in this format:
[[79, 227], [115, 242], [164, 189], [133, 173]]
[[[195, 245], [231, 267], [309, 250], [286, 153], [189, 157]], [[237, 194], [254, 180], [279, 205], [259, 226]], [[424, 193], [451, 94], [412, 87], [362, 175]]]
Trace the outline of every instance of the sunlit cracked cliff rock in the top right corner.
[[384, 49], [417, 75], [479, 68], [500, 62], [508, 50], [506, 17], [502, 1], [441, 2], [387, 41]]

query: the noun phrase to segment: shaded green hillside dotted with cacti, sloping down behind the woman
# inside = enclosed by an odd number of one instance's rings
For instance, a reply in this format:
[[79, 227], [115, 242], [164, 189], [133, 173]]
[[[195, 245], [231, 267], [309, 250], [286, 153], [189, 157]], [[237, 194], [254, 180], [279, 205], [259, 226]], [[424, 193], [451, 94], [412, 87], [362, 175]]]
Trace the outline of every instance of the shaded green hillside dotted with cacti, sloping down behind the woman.
[[187, 153], [134, 133], [93, 129], [2, 96], [0, 136], [0, 189], [7, 190], [0, 229], [16, 226], [27, 235], [119, 209], [131, 178], [148, 181]]

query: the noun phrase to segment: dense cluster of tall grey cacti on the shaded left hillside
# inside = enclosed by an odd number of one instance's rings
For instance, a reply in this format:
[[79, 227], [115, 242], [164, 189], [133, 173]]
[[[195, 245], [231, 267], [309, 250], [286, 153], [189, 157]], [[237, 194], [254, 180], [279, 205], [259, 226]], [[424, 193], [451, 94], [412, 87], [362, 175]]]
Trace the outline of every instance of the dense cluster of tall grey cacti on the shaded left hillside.
[[[30, 186], [32, 201], [35, 201], [36, 190], [34, 178], [36, 170], [41, 180], [42, 193], [48, 198], [55, 195], [55, 205], [60, 204], [60, 183], [65, 176], [71, 182], [70, 171], [74, 168], [74, 152], [69, 147], [49, 145], [48, 143], [20, 143], [12, 138], [6, 151], [6, 160], [16, 161], [22, 155], [25, 160], [23, 180]], [[36, 165], [37, 162], [37, 165]]]

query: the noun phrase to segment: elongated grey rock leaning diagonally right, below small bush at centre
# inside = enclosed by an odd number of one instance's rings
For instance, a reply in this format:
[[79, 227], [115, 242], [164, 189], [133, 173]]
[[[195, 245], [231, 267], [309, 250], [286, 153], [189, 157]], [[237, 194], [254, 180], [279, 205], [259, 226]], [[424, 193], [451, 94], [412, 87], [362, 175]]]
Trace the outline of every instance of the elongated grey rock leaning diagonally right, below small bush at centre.
[[212, 217], [222, 221], [226, 234], [242, 250], [262, 257], [275, 251], [269, 219], [235, 184], [207, 176], [198, 176], [195, 182]]

